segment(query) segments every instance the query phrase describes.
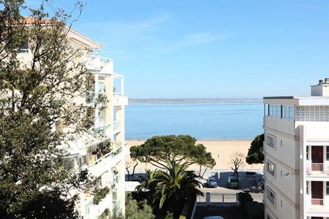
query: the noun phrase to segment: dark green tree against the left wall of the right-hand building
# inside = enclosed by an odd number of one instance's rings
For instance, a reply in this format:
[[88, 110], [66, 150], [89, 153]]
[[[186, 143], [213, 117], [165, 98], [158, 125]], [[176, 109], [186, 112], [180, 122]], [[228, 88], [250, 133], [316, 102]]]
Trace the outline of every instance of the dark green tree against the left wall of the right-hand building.
[[248, 150], [248, 155], [245, 157], [247, 164], [263, 164], [263, 142], [264, 134], [256, 136], [256, 138], [252, 141], [252, 144]]

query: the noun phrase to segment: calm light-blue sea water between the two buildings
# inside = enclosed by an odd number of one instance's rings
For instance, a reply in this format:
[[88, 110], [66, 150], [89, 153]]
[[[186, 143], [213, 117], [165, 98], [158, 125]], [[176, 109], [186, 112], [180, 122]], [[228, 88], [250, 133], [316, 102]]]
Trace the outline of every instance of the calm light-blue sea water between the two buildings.
[[253, 139], [263, 132], [262, 103], [132, 103], [127, 139], [189, 134], [197, 139]]

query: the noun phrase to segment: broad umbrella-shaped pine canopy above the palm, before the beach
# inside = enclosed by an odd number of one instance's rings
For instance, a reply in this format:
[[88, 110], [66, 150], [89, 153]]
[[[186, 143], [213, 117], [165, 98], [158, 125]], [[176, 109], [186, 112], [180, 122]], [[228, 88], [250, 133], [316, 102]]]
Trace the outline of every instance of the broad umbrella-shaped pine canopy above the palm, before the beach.
[[130, 157], [139, 162], [147, 162], [158, 168], [166, 169], [168, 162], [183, 165], [200, 164], [212, 168], [215, 159], [206, 152], [203, 144], [196, 144], [196, 139], [188, 136], [154, 136], [144, 144], [132, 146]]

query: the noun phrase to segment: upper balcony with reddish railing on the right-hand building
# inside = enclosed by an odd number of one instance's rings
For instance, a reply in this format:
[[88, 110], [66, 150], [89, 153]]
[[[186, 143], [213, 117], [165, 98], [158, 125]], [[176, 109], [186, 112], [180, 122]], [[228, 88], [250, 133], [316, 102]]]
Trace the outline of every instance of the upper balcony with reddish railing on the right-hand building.
[[329, 177], [329, 146], [306, 146], [307, 177]]

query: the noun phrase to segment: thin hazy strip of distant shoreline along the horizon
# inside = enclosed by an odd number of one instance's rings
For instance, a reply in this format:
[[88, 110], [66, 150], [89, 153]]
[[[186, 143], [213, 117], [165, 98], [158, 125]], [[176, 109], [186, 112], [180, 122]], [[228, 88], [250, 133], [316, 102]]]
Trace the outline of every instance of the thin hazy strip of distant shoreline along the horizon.
[[263, 99], [129, 99], [129, 103], [263, 103]]

